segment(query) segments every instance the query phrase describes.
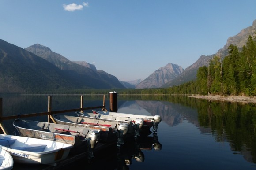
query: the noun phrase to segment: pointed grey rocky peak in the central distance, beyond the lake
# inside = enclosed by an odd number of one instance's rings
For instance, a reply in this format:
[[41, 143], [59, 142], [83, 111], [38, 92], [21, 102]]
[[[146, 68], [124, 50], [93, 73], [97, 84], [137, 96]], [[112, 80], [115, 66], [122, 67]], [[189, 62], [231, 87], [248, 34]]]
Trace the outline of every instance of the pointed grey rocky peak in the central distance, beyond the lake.
[[180, 75], [184, 69], [177, 64], [168, 63], [154, 71], [149, 77], [136, 85], [136, 89], [158, 88]]

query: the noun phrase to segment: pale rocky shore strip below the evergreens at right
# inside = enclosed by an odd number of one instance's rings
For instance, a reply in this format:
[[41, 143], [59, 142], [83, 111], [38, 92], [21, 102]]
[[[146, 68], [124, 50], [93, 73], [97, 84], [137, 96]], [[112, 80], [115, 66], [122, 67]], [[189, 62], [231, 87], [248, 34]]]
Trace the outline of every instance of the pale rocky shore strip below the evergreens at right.
[[242, 102], [242, 103], [256, 103], [256, 96], [220, 96], [220, 95], [192, 95], [188, 97], [194, 97], [197, 99], [207, 99], [207, 100], [220, 100], [220, 101], [230, 101], [230, 102]]

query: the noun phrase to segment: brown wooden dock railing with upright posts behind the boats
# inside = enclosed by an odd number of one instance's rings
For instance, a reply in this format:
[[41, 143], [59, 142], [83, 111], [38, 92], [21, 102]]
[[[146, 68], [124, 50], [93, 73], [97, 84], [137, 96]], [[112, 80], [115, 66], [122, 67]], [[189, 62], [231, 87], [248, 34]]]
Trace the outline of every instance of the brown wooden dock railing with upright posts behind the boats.
[[105, 98], [106, 98], [105, 95], [103, 95], [103, 105], [102, 106], [83, 107], [83, 96], [81, 96], [80, 108], [62, 110], [62, 111], [52, 111], [52, 96], [48, 96], [48, 111], [47, 112], [30, 113], [30, 114], [24, 114], [24, 115], [12, 115], [12, 116], [5, 116], [5, 117], [3, 117], [3, 98], [0, 98], [0, 128], [4, 134], [8, 134], [7, 129], [4, 127], [3, 121], [10, 120], [10, 119], [28, 118], [28, 117], [33, 117], [33, 116], [48, 115], [48, 122], [50, 122], [50, 120], [52, 120], [54, 123], [56, 123], [52, 117], [53, 114], [75, 112], [75, 111], [83, 112], [84, 110], [98, 109], [98, 108], [101, 108], [102, 111], [107, 111], [105, 108]]

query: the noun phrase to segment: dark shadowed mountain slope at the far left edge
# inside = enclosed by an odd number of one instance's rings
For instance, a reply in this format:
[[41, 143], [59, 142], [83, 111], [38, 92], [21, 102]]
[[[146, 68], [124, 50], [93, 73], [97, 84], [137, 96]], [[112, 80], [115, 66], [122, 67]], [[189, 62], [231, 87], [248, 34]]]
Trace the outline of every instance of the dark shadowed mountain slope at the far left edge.
[[0, 39], [0, 93], [77, 88], [52, 63]]

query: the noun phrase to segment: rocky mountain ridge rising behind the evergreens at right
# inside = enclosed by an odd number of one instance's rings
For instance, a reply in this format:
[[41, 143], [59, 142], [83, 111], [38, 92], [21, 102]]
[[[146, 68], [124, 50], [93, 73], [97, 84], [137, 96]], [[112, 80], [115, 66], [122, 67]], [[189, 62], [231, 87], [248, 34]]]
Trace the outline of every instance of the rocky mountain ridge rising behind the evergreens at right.
[[177, 78], [174, 78], [173, 80], [162, 85], [162, 88], [171, 87], [173, 85], [181, 85], [185, 82], [195, 80], [197, 70], [199, 67], [208, 66], [210, 59], [217, 54], [220, 55], [222, 59], [224, 57], [226, 57], [228, 55], [227, 48], [230, 46], [230, 44], [233, 44], [233, 45], [237, 46], [238, 49], [241, 49], [246, 44], [246, 41], [247, 41], [249, 35], [253, 36], [253, 35], [255, 35], [255, 32], [256, 32], [256, 20], [253, 21], [252, 26], [242, 29], [240, 33], [238, 33], [237, 35], [235, 35], [233, 37], [229, 37], [227, 39], [227, 42], [224, 45], [224, 47], [219, 49], [218, 52], [216, 52], [215, 54], [207, 55], [207, 56], [201, 55], [200, 58], [195, 63], [193, 63], [191, 66], [187, 67], [181, 73], [181, 75], [177, 76]]

